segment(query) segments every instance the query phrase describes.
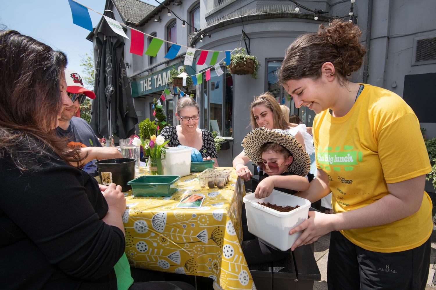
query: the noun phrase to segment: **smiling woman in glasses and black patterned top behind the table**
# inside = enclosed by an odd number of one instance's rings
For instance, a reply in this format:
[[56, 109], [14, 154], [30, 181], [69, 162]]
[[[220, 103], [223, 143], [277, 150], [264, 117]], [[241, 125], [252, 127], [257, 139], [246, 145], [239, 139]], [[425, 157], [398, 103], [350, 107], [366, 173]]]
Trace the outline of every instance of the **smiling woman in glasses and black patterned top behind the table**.
[[[198, 129], [200, 119], [200, 109], [197, 102], [191, 97], [182, 97], [176, 105], [176, 116], [180, 125], [167, 126], [160, 132], [168, 147], [185, 146], [193, 148], [193, 158], [195, 161], [214, 160], [214, 167], [218, 167], [217, 150], [215, 148], [212, 133], [205, 129]], [[193, 157], [194, 155], [197, 155]]]

